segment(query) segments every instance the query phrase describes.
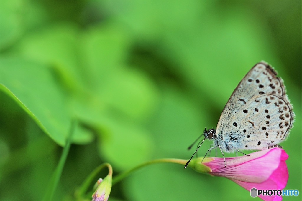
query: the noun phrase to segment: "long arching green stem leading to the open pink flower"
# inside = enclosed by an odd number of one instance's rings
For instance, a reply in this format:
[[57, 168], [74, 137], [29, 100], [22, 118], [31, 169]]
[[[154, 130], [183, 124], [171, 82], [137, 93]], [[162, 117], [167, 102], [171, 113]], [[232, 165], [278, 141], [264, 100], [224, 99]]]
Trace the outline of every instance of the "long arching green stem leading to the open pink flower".
[[187, 162], [187, 160], [183, 160], [183, 159], [155, 159], [152, 161], [148, 161], [145, 162], [141, 165], [138, 165], [130, 170], [127, 170], [123, 173], [118, 174], [117, 176], [115, 176], [112, 180], [112, 185], [118, 183], [119, 181], [121, 181], [122, 179], [124, 179], [125, 177], [127, 177], [129, 174], [131, 174], [132, 172], [136, 171], [137, 169], [140, 169], [146, 165], [150, 165], [150, 164], [155, 164], [155, 163], [177, 163], [177, 164], [181, 164], [181, 165], [185, 165]]

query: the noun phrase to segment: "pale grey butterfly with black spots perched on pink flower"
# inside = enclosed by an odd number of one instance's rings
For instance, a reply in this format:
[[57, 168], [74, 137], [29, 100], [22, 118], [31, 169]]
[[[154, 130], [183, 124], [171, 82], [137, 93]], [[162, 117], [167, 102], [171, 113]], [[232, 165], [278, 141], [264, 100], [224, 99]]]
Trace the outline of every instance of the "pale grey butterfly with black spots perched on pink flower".
[[[213, 146], [206, 155], [218, 147], [223, 159], [223, 152], [236, 150], [244, 154], [239, 149], [282, 148], [278, 143], [286, 139], [293, 122], [293, 107], [286, 95], [283, 80], [277, 77], [277, 72], [269, 64], [261, 61], [252, 67], [233, 91], [223, 108], [216, 130], [204, 130], [205, 138], [198, 148], [206, 138], [213, 140]], [[226, 167], [225, 160], [224, 165]]]

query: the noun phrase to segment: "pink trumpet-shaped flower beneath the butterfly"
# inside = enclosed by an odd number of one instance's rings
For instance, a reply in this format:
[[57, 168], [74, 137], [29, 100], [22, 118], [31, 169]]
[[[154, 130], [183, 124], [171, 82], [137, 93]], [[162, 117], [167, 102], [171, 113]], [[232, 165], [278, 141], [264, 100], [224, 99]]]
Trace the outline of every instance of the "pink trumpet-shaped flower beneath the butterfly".
[[[287, 153], [280, 148], [265, 149], [249, 154], [226, 158], [226, 167], [223, 158], [212, 159], [203, 164], [215, 176], [226, 177], [239, 184], [246, 190], [282, 190], [288, 181], [288, 169], [285, 160]], [[263, 200], [282, 200], [282, 196], [259, 196]]]

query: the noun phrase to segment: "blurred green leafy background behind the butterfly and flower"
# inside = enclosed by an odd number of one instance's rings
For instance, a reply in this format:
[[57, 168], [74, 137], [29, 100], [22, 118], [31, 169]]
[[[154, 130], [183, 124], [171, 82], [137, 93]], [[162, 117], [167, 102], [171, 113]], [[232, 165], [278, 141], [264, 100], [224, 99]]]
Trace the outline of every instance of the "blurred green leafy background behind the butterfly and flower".
[[[285, 189], [301, 194], [301, 1], [1, 0], [1, 200], [43, 198], [74, 116], [55, 200], [73, 200], [102, 162], [116, 175], [150, 159], [189, 159], [187, 147], [216, 127], [261, 60], [278, 71], [294, 105], [281, 145]], [[109, 197], [208, 199], [255, 200], [226, 178], [175, 164], [145, 167]]]

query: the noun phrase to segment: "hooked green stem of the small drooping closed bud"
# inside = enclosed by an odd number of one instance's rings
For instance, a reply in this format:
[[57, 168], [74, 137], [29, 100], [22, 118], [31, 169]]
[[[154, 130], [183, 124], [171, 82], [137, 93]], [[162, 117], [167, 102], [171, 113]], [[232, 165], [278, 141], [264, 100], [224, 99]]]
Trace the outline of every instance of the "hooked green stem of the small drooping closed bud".
[[76, 191], [75, 196], [77, 200], [80, 200], [80, 198], [84, 196], [92, 181], [97, 177], [97, 174], [106, 166], [108, 167], [108, 175], [112, 176], [112, 167], [109, 163], [102, 163], [99, 165], [88, 175], [88, 177], [86, 177], [81, 187]]

